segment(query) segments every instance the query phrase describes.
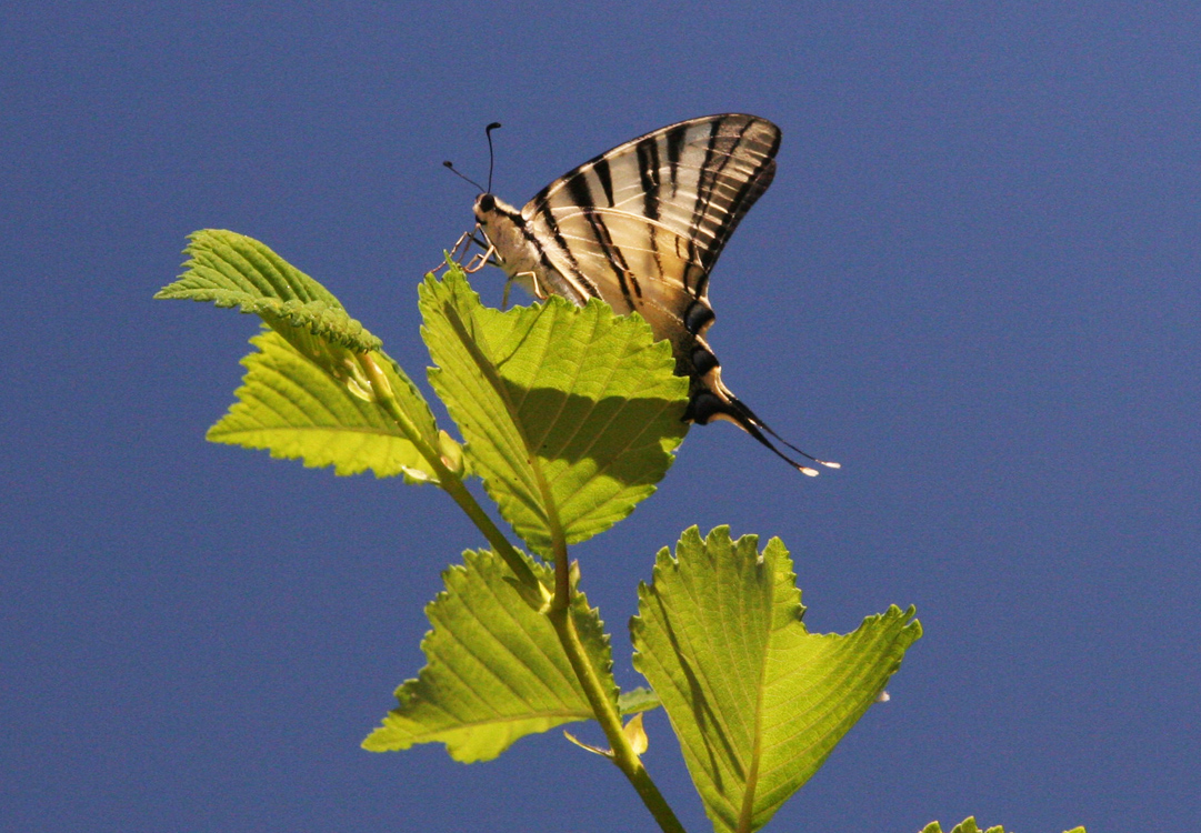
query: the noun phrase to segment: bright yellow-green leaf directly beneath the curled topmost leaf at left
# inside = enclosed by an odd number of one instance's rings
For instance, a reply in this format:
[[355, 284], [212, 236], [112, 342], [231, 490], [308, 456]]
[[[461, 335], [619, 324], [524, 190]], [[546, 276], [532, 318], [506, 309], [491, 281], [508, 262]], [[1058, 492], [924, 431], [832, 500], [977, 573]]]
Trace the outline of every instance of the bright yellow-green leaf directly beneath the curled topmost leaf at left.
[[[250, 341], [259, 352], [243, 359], [247, 372], [238, 401], [209, 429], [208, 439], [268, 449], [273, 457], [300, 459], [310, 467], [334, 466], [336, 474], [371, 469], [381, 478], [405, 473], [411, 481], [436, 481], [429, 462], [374, 397], [331, 378], [279, 332]], [[420, 394], [390, 359], [375, 356], [420, 437], [438, 448], [437, 426]]]

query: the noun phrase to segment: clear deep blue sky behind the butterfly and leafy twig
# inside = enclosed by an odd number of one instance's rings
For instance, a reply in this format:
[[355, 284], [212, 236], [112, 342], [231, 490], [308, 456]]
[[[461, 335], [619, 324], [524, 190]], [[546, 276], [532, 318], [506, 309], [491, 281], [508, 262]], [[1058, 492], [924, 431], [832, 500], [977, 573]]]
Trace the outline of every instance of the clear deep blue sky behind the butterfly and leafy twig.
[[486, 175], [486, 122], [521, 204], [739, 110], [784, 140], [715, 270], [711, 342], [844, 468], [693, 430], [575, 552], [620, 681], [661, 546], [778, 535], [812, 629], [915, 604], [926, 636], [777, 829], [1190, 828], [1199, 32], [1196, 4], [10, 4], [0, 827], [650, 829], [558, 732], [471, 767], [358, 748], [480, 540], [435, 489], [203, 442], [257, 322], [150, 296], [189, 232], [234, 229], [423, 378], [416, 284], [474, 196], [441, 163]]

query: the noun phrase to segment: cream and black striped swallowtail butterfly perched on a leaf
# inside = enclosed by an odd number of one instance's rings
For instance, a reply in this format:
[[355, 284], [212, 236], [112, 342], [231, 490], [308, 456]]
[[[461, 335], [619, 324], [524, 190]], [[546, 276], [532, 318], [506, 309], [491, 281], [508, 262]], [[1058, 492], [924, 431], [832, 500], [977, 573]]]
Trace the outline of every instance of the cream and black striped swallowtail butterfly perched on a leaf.
[[[489, 125], [490, 150], [498, 126]], [[656, 338], [671, 342], [676, 373], [688, 377], [686, 420], [729, 420], [815, 475], [766, 435], [815, 463], [838, 463], [817, 460], [767, 427], [722, 382], [705, 340], [713, 323], [710, 272], [771, 185], [779, 136], [766, 119], [739, 113], [681, 121], [567, 172], [520, 211], [491, 193], [489, 175], [489, 187], [476, 198], [476, 228], [460, 244], [485, 250], [468, 271], [491, 263], [536, 298], [555, 294], [578, 305], [600, 298], [617, 313], [637, 311]]]

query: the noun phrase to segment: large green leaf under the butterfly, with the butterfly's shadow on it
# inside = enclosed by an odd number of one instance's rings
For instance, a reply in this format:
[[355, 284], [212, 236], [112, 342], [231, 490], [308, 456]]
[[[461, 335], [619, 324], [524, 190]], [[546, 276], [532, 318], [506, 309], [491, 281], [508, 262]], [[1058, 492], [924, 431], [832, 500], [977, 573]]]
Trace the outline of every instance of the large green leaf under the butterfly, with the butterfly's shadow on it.
[[688, 384], [644, 320], [561, 298], [489, 310], [458, 269], [426, 278], [420, 307], [430, 383], [534, 552], [608, 529], [655, 491], [687, 431]]

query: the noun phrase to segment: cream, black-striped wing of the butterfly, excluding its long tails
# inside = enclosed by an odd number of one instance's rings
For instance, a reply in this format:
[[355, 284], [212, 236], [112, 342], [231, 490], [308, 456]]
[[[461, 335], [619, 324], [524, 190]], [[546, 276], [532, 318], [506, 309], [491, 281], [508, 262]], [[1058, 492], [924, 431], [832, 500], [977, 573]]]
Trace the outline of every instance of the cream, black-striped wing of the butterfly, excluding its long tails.
[[[724, 114], [627, 142], [543, 188], [522, 209], [551, 265], [578, 293], [638, 310], [669, 338], [694, 391], [716, 367], [709, 274], [776, 172], [779, 128]], [[550, 244], [554, 241], [554, 244]], [[703, 348], [707, 356], [698, 354]], [[719, 384], [719, 382], [718, 382]]]

